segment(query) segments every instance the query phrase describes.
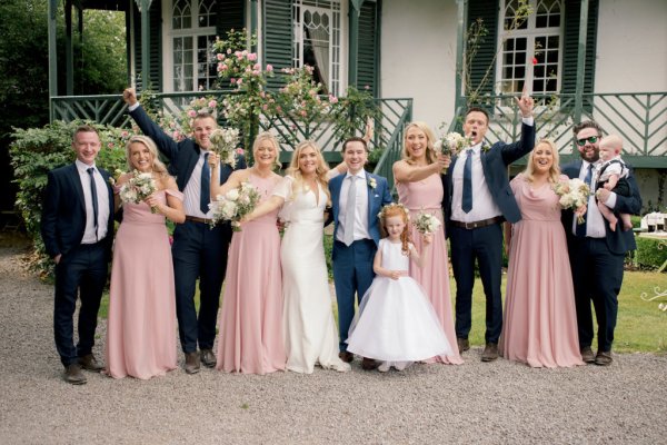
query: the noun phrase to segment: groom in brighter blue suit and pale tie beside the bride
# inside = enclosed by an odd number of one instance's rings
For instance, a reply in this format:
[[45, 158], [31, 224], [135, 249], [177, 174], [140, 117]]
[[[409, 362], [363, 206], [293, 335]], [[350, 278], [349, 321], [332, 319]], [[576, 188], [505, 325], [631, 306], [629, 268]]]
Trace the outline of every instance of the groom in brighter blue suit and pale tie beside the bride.
[[[368, 147], [362, 138], [350, 138], [342, 144], [342, 160], [347, 175], [329, 181], [334, 207], [334, 285], [338, 301], [338, 329], [340, 358], [350, 363], [352, 353], [347, 352], [347, 338], [355, 317], [357, 304], [370, 287], [375, 273], [372, 261], [380, 243], [378, 212], [391, 204], [387, 179], [364, 169], [368, 160]], [[365, 369], [372, 369], [375, 360], [364, 358]]]

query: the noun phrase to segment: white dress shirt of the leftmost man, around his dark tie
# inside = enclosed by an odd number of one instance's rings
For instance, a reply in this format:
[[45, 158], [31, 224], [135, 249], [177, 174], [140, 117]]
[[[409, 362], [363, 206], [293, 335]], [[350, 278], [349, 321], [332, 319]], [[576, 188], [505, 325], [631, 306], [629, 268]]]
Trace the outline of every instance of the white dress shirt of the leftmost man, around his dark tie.
[[[79, 171], [79, 178], [81, 179], [81, 188], [83, 189], [83, 201], [86, 202], [86, 230], [83, 231], [83, 238], [81, 244], [96, 244], [107, 236], [109, 229], [109, 191], [104, 178], [97, 169], [94, 164], [89, 166], [88, 164], [81, 162], [79, 159], [74, 161], [77, 170]], [[94, 187], [98, 197], [98, 229], [94, 233], [94, 214], [92, 207], [92, 194], [90, 189], [90, 174], [88, 169], [92, 167], [94, 169], [92, 176], [94, 178]]]

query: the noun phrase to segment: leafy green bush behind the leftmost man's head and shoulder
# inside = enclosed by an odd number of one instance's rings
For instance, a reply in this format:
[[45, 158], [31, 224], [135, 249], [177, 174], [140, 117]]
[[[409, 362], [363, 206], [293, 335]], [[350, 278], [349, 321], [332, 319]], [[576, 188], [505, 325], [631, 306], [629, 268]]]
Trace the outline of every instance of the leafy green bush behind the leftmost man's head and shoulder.
[[[52, 274], [52, 261], [44, 253], [39, 227], [47, 174], [74, 161], [72, 135], [81, 123], [56, 121], [43, 128], [16, 129], [12, 135], [14, 141], [10, 146], [10, 156], [14, 182], [19, 185], [16, 205], [23, 217], [28, 235], [33, 240], [31, 268], [42, 277]], [[98, 129], [102, 142], [97, 165], [109, 171], [127, 170], [125, 142], [130, 134], [113, 127], [91, 125]]]

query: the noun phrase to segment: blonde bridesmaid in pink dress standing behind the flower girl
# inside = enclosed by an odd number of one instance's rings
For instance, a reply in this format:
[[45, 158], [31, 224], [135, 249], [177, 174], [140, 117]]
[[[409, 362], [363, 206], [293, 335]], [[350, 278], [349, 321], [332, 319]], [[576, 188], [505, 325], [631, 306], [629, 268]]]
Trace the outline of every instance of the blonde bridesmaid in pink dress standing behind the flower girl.
[[[449, 166], [449, 158], [436, 154], [435, 137], [424, 122], [412, 122], [406, 127], [402, 159], [394, 164], [394, 179], [398, 200], [416, 218], [425, 210], [435, 215], [442, 225], [432, 236], [431, 248], [426, 249], [425, 265], [410, 263], [410, 276], [417, 280], [429, 297], [450, 345], [456, 345], [451, 299], [449, 296], [449, 260], [445, 241], [442, 217], [442, 178], [440, 174]], [[417, 251], [422, 251], [422, 237], [411, 227], [411, 239]], [[460, 365], [464, 363], [457, 348], [450, 355], [434, 357], [428, 363]]]

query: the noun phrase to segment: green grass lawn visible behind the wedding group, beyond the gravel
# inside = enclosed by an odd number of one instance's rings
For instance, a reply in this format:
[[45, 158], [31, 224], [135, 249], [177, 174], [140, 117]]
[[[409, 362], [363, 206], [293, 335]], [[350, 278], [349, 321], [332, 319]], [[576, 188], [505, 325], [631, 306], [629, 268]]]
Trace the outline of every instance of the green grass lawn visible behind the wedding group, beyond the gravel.
[[[640, 295], [645, 293], [648, 297], [667, 289], [667, 274], [626, 271], [623, 289], [618, 297], [618, 323], [616, 326], [616, 339], [614, 350], [616, 352], [644, 352], [667, 353], [667, 313], [658, 309], [658, 301], [645, 301]], [[505, 290], [505, 279], [502, 280]], [[199, 295], [199, 294], [198, 294]], [[456, 284], [451, 279], [451, 296], [456, 295]], [[663, 298], [666, 300], [667, 298]], [[106, 318], [108, 312], [109, 295], [104, 295], [100, 316]], [[199, 298], [196, 298], [199, 307]], [[332, 305], [334, 314], [338, 318], [336, 305]], [[485, 332], [485, 296], [479, 279], [475, 283], [472, 295], [472, 330], [470, 332], [470, 344], [484, 345]], [[595, 344], [595, 340], [594, 340]]]

